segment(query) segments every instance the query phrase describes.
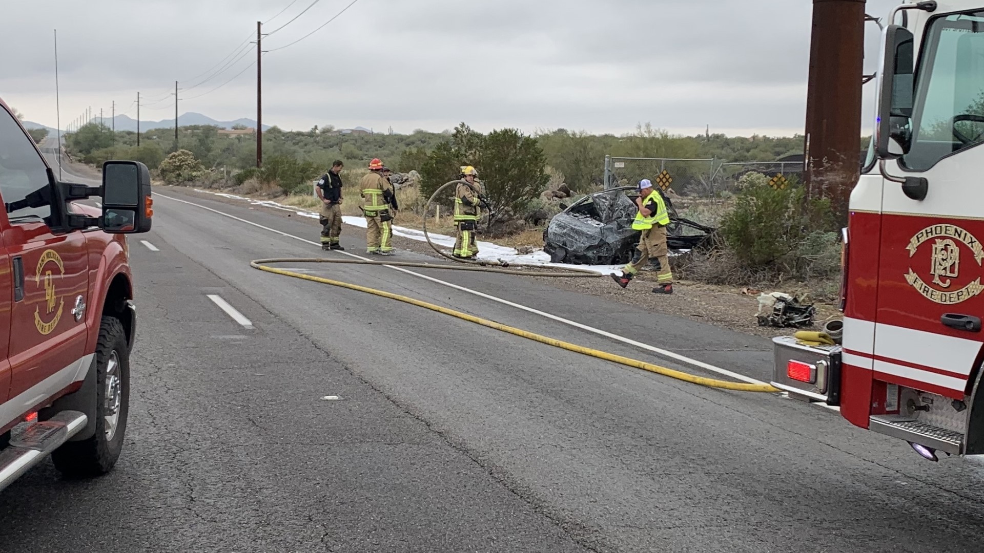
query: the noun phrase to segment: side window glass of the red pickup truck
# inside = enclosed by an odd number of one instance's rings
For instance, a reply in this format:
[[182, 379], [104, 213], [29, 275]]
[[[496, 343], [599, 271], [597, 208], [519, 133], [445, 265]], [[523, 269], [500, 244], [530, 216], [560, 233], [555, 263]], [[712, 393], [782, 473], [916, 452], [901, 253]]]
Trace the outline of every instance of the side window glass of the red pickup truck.
[[[0, 106], [0, 195], [9, 206], [24, 200], [31, 192], [48, 186], [47, 167], [31, 145], [31, 137], [18, 126], [14, 116]], [[7, 216], [12, 223], [44, 219], [51, 207], [24, 208]]]

